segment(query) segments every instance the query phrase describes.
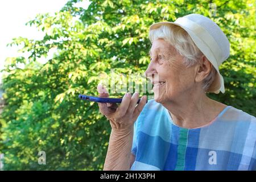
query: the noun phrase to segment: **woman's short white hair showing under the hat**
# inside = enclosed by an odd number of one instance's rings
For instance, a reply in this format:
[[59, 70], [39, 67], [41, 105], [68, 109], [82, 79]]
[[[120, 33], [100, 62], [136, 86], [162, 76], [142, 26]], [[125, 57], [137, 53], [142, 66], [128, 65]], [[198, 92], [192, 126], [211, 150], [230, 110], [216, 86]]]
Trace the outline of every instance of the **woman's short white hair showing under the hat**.
[[[156, 39], [164, 39], [170, 43], [180, 55], [184, 56], [183, 63], [186, 67], [191, 67], [199, 63], [200, 57], [203, 55], [189, 34], [183, 28], [175, 24], [163, 25], [157, 29], [151, 30], [149, 32], [149, 39], [151, 43]], [[216, 69], [212, 67], [208, 76], [203, 80], [203, 89], [205, 92], [207, 92], [214, 81], [216, 73]]]

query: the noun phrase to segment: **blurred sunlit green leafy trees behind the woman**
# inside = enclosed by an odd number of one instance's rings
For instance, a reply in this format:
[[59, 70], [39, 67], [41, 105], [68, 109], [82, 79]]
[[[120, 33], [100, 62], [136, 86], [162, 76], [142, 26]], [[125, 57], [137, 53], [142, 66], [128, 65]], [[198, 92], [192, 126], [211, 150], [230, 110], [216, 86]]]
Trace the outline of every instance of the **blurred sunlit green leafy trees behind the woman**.
[[[149, 26], [191, 13], [214, 20], [231, 44], [220, 69], [226, 92], [209, 97], [256, 115], [254, 1], [97, 0], [86, 10], [76, 2], [27, 23], [45, 33], [42, 40], [10, 43], [30, 57], [9, 57], [2, 71], [4, 170], [102, 169], [110, 125], [97, 104], [78, 100], [78, 94], [97, 95], [99, 75], [113, 68], [143, 73], [150, 61]], [[51, 48], [57, 49], [53, 58], [40, 64]], [[39, 151], [46, 152], [46, 165], [38, 164]]]

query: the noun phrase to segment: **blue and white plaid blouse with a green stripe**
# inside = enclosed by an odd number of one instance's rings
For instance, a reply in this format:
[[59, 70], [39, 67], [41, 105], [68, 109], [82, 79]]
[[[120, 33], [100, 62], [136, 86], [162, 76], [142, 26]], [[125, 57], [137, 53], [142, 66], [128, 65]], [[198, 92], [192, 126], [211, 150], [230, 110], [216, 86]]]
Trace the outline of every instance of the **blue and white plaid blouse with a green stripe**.
[[131, 170], [255, 170], [256, 118], [227, 106], [207, 126], [176, 126], [148, 101], [134, 123]]

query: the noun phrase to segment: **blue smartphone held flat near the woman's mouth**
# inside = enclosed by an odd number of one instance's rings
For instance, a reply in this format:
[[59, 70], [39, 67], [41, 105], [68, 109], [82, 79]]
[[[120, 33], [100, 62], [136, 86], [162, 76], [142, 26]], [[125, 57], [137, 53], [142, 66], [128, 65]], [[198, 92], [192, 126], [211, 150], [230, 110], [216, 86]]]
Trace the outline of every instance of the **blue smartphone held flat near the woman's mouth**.
[[[94, 97], [94, 96], [86, 96], [82, 94], [79, 94], [79, 98], [80, 100], [102, 102], [102, 103], [121, 103], [122, 102], [122, 98]], [[141, 99], [138, 100], [137, 104], [139, 104], [139, 101], [141, 101]]]

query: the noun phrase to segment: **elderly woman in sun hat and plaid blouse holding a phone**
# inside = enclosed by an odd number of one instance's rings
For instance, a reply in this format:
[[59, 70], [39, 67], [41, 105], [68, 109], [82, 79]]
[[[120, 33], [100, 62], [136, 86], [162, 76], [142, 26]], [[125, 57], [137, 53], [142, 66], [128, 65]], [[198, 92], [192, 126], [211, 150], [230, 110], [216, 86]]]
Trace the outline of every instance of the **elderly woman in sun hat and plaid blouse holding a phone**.
[[220, 27], [189, 14], [152, 24], [149, 37], [154, 100], [137, 105], [138, 93], [126, 93], [119, 106], [99, 104], [112, 126], [104, 169], [255, 170], [256, 118], [205, 94], [225, 92], [218, 67], [229, 41]]

